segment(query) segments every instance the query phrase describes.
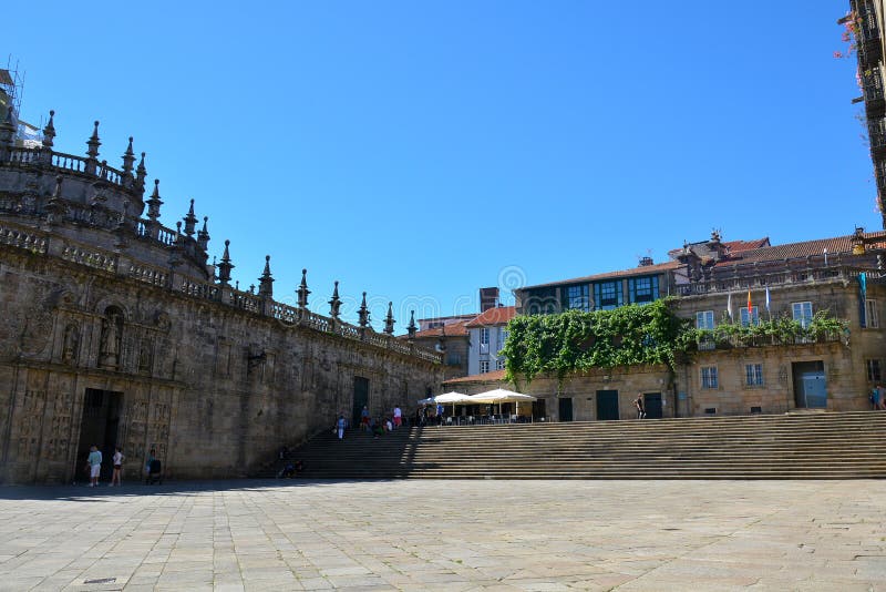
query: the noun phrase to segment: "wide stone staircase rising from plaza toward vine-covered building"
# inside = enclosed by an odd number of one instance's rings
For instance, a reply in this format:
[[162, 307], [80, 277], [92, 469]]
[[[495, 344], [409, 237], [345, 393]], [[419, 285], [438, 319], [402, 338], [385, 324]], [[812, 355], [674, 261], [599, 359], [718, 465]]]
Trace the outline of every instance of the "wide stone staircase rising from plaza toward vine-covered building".
[[886, 477], [884, 445], [886, 411], [859, 411], [326, 431], [288, 459], [317, 479], [855, 479]]

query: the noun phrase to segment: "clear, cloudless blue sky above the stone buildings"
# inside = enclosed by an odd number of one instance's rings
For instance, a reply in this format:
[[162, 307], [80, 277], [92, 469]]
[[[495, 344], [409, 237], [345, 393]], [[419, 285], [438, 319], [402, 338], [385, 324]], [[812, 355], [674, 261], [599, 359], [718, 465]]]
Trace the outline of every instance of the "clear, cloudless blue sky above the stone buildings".
[[135, 136], [161, 221], [193, 197], [240, 286], [269, 254], [285, 302], [307, 267], [312, 309], [339, 279], [400, 333], [714, 227], [879, 228], [845, 0], [190, 4], [16, 2], [0, 51], [56, 150], [97, 119], [119, 165]]

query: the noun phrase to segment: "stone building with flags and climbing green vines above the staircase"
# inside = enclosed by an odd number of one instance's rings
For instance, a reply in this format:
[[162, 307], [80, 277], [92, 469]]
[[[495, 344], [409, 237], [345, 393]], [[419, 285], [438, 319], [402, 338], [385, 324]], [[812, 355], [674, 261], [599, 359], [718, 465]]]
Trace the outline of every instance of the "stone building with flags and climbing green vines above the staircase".
[[[793, 409], [862, 410], [884, 378], [886, 232], [772, 245], [769, 238], [686, 244], [670, 259], [516, 290], [518, 314], [611, 309], [673, 297], [677, 314], [697, 327], [759, 325], [790, 318], [807, 325], [827, 310], [847, 333], [719, 339], [674, 371], [643, 366], [600, 368], [563, 385], [535, 378], [522, 391], [542, 399], [537, 415], [559, 420], [636, 417], [643, 397], [649, 417], [780, 414]], [[480, 392], [505, 386], [504, 371], [449, 379], [447, 390]]]

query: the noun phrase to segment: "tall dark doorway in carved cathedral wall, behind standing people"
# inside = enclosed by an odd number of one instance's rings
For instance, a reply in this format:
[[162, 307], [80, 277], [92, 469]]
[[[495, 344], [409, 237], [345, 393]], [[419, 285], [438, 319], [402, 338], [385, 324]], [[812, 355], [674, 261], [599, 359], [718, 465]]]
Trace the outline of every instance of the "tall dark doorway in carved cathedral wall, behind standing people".
[[80, 422], [80, 442], [76, 451], [76, 479], [87, 478], [84, 471], [90, 447], [95, 445], [102, 452], [102, 473], [100, 479], [111, 480], [114, 471], [111, 459], [117, 445], [120, 431], [120, 410], [123, 394], [113, 390], [87, 388], [83, 398], [83, 419]]

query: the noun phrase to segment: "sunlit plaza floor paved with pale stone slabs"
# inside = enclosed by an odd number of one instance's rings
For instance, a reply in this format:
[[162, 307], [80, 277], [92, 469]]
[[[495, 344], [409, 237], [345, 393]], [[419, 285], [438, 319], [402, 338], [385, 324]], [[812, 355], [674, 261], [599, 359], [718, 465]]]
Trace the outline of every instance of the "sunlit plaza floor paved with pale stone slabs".
[[886, 481], [0, 488], [2, 590], [743, 588], [886, 590]]

